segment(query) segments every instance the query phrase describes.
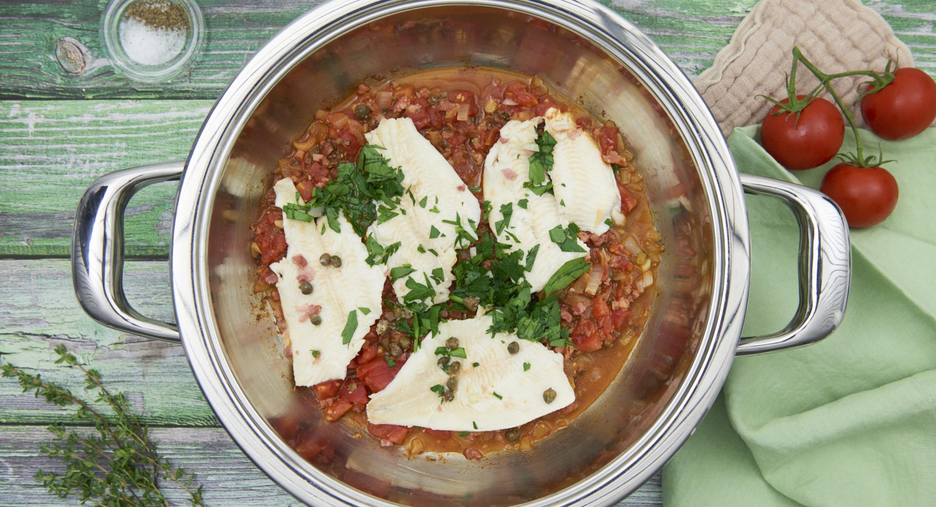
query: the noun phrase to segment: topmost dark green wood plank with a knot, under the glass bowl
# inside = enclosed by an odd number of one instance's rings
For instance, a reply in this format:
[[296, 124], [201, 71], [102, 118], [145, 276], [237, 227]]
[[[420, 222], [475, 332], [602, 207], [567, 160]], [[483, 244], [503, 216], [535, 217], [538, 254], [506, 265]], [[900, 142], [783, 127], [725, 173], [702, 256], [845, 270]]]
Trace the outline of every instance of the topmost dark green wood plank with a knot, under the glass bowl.
[[[755, 0], [603, 0], [645, 31], [689, 74], [711, 60]], [[115, 73], [98, 36], [106, 2], [85, 0], [0, 6], [0, 98], [214, 98], [271, 36], [319, 0], [257, 3], [201, 0], [207, 43], [191, 70], [169, 83], [144, 84]], [[936, 72], [936, 4], [931, 0], [868, 0], [911, 46], [918, 65]], [[78, 76], [56, 62], [54, 49], [73, 37], [93, 55]]]

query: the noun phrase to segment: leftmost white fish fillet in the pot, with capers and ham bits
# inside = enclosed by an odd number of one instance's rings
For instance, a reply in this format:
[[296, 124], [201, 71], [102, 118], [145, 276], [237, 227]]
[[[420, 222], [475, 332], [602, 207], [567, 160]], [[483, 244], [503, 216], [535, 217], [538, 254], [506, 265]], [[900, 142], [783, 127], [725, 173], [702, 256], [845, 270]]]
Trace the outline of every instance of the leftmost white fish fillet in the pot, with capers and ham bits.
[[[273, 189], [276, 206], [296, 203], [292, 180], [277, 181]], [[284, 218], [286, 256], [270, 265], [279, 277], [276, 288], [289, 335], [296, 385], [344, 379], [348, 362], [358, 355], [364, 335], [380, 316], [380, 297], [387, 278], [384, 268], [368, 266], [364, 262], [367, 249], [343, 214], [339, 214], [338, 222], [342, 232], [331, 230], [325, 218], [314, 222]], [[322, 253], [339, 255], [341, 268], [322, 266], [318, 261]], [[312, 294], [302, 294], [302, 281], [312, 283]], [[365, 315], [359, 308], [369, 309], [370, 313]], [[350, 311], [357, 312], [358, 327], [351, 341], [343, 344], [342, 330]], [[319, 326], [312, 324], [311, 314], [321, 317]], [[313, 350], [318, 351], [317, 356]]]

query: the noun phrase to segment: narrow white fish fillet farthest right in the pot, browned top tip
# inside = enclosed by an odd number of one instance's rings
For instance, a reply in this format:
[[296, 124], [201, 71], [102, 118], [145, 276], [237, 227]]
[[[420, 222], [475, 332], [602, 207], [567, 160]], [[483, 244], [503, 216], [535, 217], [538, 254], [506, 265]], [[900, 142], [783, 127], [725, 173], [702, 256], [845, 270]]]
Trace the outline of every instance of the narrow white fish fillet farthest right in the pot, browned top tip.
[[583, 231], [602, 234], [606, 221], [621, 217], [621, 194], [614, 171], [601, 158], [592, 136], [575, 123], [571, 113], [550, 108], [544, 116], [546, 130], [556, 139], [549, 171], [556, 198], [564, 203], [560, 214]]

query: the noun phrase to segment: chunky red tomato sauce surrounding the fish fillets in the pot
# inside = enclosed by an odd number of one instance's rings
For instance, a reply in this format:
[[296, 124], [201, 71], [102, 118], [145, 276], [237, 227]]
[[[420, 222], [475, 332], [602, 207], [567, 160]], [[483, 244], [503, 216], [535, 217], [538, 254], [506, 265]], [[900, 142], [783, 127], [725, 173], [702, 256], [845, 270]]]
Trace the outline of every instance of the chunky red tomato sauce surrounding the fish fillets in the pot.
[[[313, 188], [324, 186], [335, 176], [339, 164], [357, 159], [360, 147], [366, 144], [365, 132], [385, 118], [407, 117], [446, 157], [461, 180], [476, 189], [480, 203], [484, 199], [480, 190], [484, 160], [499, 138], [501, 127], [510, 120], [542, 115], [549, 108], [571, 111], [578, 125], [598, 142], [603, 158], [614, 167], [626, 216], [624, 225], [614, 225], [605, 234], [579, 234], [590, 248], [587, 259], [592, 268], [564, 289], [560, 297], [563, 326], [568, 326], [570, 340], [576, 346], [554, 350], [565, 358], [565, 373], [575, 388], [576, 401], [504, 431], [452, 432], [369, 424], [365, 416], [368, 396], [393, 380], [413, 350], [412, 338], [394, 327], [395, 320], [404, 313], [392, 306], [396, 297], [386, 282], [383, 318], [366, 335], [366, 344], [348, 365], [347, 378], [311, 387], [327, 420], [342, 420], [350, 430], [369, 433], [381, 445], [402, 445], [408, 456], [458, 452], [480, 458], [503, 449], [530, 449], [536, 441], [568, 426], [622, 369], [649, 316], [653, 280], [664, 244], [653, 226], [634, 157], [627, 151], [617, 126], [601, 122], [542, 80], [478, 67], [431, 69], [389, 81], [365, 80], [342, 103], [314, 113], [314, 121], [292, 142], [290, 154], [273, 171], [273, 182], [292, 179], [302, 198], [308, 200]], [[282, 331], [285, 325], [275, 288], [276, 275], [269, 265], [285, 255], [286, 244], [283, 214], [274, 200], [270, 190], [252, 225], [255, 238], [250, 248], [257, 262], [255, 291], [271, 302]], [[487, 228], [487, 223], [482, 222], [478, 232]], [[468, 256], [466, 250], [461, 251], [459, 260]], [[466, 311], [443, 312], [446, 319], [473, 315]], [[387, 356], [392, 358], [393, 366]], [[293, 443], [297, 448], [314, 446], [302, 439]]]

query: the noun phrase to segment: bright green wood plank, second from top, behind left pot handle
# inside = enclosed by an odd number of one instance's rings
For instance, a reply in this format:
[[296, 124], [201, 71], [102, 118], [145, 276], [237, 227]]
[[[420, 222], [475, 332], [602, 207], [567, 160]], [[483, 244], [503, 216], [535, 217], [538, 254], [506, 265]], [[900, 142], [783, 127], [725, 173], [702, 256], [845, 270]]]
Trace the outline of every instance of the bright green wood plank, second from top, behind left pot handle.
[[[95, 178], [184, 160], [206, 100], [0, 101], [0, 256], [66, 256], [75, 209]], [[166, 256], [177, 184], [143, 189], [127, 210], [125, 251]]]

